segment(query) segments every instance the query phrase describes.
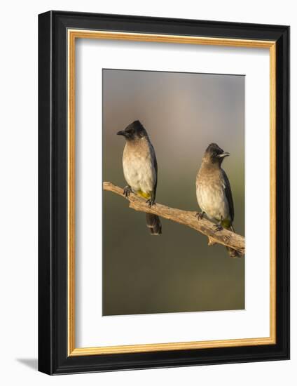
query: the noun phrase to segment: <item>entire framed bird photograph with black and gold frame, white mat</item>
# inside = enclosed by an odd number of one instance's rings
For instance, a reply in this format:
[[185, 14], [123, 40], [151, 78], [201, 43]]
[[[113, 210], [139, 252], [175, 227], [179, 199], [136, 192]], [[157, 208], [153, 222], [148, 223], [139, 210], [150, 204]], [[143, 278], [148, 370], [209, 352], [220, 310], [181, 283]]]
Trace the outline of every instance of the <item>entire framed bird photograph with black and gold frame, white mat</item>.
[[289, 359], [289, 27], [39, 15], [39, 371]]

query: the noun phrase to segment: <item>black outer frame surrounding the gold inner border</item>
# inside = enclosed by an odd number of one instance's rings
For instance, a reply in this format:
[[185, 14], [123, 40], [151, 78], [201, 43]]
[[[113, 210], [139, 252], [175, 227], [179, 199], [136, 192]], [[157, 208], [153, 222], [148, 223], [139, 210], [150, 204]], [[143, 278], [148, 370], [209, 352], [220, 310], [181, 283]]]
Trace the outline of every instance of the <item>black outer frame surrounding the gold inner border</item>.
[[[67, 354], [67, 29], [271, 40], [276, 56], [275, 345]], [[289, 27], [49, 11], [39, 15], [39, 371], [65, 374], [289, 359]]]

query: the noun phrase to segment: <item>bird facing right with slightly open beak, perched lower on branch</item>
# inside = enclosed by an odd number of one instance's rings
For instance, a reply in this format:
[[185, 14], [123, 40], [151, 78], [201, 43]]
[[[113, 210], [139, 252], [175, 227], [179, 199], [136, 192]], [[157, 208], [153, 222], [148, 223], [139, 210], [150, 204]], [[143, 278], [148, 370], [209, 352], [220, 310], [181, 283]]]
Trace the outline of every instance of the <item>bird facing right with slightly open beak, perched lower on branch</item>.
[[[207, 147], [196, 177], [196, 196], [202, 209], [202, 213], [198, 213], [198, 219], [206, 214], [209, 220], [216, 222], [216, 231], [224, 227], [235, 232], [232, 225], [234, 205], [230, 182], [221, 168], [223, 159], [229, 155], [216, 143]], [[235, 249], [227, 249], [230, 257], [238, 257], [239, 253]]]

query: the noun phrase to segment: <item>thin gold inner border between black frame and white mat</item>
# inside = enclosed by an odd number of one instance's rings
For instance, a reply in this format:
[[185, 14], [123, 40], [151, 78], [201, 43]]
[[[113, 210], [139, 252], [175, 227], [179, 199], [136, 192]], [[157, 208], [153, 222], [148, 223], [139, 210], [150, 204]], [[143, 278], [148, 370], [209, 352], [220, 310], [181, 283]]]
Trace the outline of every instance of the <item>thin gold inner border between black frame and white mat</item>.
[[[150, 343], [104, 347], [75, 346], [75, 44], [76, 39], [109, 39], [127, 41], [153, 41], [174, 44], [198, 44], [207, 46], [232, 46], [269, 48], [270, 51], [270, 336], [230, 340], [202, 340], [194, 342]], [[139, 34], [131, 32], [107, 32], [87, 29], [68, 29], [68, 235], [67, 235], [67, 331], [68, 356], [121, 354], [133, 352], [157, 352], [168, 350], [193, 350], [215, 347], [240, 347], [273, 345], [276, 343], [276, 42], [248, 39], [225, 39], [202, 36], [166, 34]]]

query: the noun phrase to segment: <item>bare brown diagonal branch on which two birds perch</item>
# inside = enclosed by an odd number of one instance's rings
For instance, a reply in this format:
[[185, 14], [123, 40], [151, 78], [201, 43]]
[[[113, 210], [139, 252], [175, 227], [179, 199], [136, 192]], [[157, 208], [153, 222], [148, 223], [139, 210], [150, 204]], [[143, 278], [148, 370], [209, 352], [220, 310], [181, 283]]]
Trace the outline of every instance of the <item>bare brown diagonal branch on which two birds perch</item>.
[[[113, 192], [125, 198], [123, 194], [123, 188], [113, 185], [111, 182], [103, 182], [103, 189], [109, 192]], [[197, 212], [192, 211], [181, 211], [181, 209], [170, 208], [162, 204], [155, 204], [148, 207], [146, 200], [141, 199], [137, 195], [131, 193], [128, 197], [130, 208], [135, 211], [153, 213], [159, 215], [160, 217], [166, 218], [167, 220], [172, 220], [174, 222], [179, 222], [179, 224], [186, 225], [195, 229], [196, 231], [205, 234], [209, 238], [209, 245], [214, 245], [216, 243], [222, 244], [224, 246], [230, 246], [240, 254], [244, 255], [244, 237], [240, 234], [236, 234], [223, 229], [219, 232], [214, 231], [214, 223], [202, 218], [198, 220], [196, 217]]]

